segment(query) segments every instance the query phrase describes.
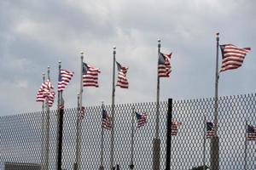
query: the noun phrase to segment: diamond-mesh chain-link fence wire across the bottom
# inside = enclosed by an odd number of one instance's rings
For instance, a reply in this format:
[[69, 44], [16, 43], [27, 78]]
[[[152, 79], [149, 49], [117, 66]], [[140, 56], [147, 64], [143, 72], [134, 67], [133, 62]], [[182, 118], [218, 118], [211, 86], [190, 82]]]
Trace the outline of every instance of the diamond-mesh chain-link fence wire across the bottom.
[[[147, 123], [143, 127], [137, 127], [135, 124], [134, 169], [153, 169], [153, 141], [156, 124], [156, 104], [154, 102], [115, 105], [114, 164], [119, 164], [120, 169], [130, 169], [131, 122], [132, 118], [135, 123], [137, 120], [133, 115], [133, 108], [138, 113], [147, 114]], [[105, 105], [105, 109], [111, 116], [111, 105]], [[160, 102], [159, 169], [161, 170], [166, 169], [167, 109], [168, 102]], [[256, 169], [256, 140], [249, 141], [246, 138], [247, 124], [256, 126], [255, 113], [255, 94], [227, 96], [218, 99], [219, 170]], [[0, 169], [38, 169], [38, 166], [45, 166], [47, 160], [48, 168], [45, 169], [56, 169], [57, 114], [58, 111], [49, 112], [49, 147], [47, 147], [46, 112], [1, 116]], [[74, 167], [77, 117], [77, 108], [65, 109], [62, 169], [73, 169]], [[171, 140], [171, 169], [191, 170], [193, 167], [200, 167], [203, 164], [211, 166], [211, 139], [204, 139], [206, 137], [205, 121], [213, 122], [213, 118], [213, 98], [173, 100], [172, 121], [180, 122], [181, 125], [178, 126], [177, 135], [172, 136]], [[80, 127], [81, 169], [99, 169], [102, 149], [102, 106], [85, 107], [85, 116]], [[103, 167], [111, 169], [111, 130], [103, 129], [103, 132]]]

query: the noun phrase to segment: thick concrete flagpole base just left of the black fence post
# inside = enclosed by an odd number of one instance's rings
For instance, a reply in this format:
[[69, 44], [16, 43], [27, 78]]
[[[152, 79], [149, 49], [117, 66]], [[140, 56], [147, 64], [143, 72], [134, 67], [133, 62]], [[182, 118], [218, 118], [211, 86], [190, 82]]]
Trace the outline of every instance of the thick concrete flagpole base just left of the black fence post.
[[153, 141], [153, 170], [160, 170], [160, 139]]

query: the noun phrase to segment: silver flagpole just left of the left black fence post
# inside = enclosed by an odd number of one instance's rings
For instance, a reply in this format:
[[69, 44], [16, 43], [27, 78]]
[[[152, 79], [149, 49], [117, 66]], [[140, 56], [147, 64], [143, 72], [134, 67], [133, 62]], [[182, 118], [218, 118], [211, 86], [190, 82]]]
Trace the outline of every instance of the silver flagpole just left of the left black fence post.
[[[49, 66], [47, 71], [47, 76], [49, 79]], [[49, 169], [49, 99], [46, 98], [46, 146], [45, 146], [45, 168]]]

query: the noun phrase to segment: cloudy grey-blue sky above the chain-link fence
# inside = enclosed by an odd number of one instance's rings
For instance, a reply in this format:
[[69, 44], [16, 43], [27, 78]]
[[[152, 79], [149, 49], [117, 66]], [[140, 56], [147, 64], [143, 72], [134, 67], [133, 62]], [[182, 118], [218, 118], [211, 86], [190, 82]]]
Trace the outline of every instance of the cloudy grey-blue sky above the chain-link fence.
[[130, 83], [116, 89], [116, 103], [155, 101], [158, 38], [161, 51], [173, 53], [160, 99], [213, 97], [218, 31], [221, 44], [252, 48], [241, 68], [221, 73], [219, 95], [254, 93], [255, 6], [250, 0], [2, 0], [0, 116], [40, 111], [35, 98], [42, 72], [50, 66], [56, 87], [60, 59], [75, 72], [64, 92], [66, 107], [75, 107], [81, 50], [84, 61], [102, 71], [100, 88], [84, 88], [83, 105], [110, 104], [113, 46], [116, 59], [129, 66]]

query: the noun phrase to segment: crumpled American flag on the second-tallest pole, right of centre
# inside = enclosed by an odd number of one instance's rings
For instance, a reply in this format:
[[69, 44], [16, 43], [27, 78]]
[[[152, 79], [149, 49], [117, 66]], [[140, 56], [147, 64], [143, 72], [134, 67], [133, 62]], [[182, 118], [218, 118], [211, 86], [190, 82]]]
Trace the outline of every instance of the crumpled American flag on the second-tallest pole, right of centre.
[[158, 77], [170, 77], [171, 73], [171, 64], [170, 64], [170, 59], [172, 56], [171, 54], [158, 54], [159, 59], [158, 59]]

